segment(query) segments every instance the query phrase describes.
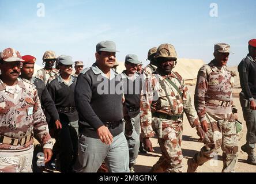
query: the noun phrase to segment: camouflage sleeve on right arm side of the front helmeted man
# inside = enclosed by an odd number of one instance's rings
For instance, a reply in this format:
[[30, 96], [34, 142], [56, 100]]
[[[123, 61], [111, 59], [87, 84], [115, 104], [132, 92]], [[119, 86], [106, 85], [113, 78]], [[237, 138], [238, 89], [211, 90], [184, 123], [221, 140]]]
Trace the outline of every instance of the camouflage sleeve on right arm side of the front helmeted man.
[[189, 120], [189, 124], [192, 128], [200, 125], [197, 112], [192, 103], [191, 95], [189, 93], [189, 89], [187, 88], [185, 81], [183, 79], [183, 108], [186, 113], [187, 120]]

